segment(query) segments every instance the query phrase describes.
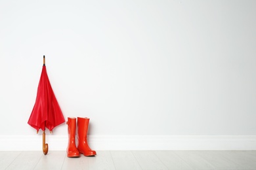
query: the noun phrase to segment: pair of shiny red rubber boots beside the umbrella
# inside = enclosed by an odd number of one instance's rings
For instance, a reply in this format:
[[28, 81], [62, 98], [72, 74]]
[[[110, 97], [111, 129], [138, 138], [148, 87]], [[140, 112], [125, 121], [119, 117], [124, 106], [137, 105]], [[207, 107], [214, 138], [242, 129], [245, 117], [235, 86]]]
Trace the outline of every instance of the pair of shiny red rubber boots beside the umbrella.
[[68, 117], [68, 157], [95, 156], [95, 150], [91, 150], [87, 142], [87, 131], [89, 126], [89, 118], [77, 118], [78, 146], [75, 146], [75, 128], [76, 118]]

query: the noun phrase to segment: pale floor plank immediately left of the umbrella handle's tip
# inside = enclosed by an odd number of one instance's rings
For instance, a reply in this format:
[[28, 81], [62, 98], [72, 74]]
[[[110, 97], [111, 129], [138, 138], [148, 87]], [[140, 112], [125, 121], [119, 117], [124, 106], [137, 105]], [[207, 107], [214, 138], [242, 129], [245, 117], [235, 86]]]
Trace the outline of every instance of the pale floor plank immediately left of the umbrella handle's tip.
[[41, 156], [43, 156], [42, 151], [21, 152], [7, 167], [7, 169], [34, 169]]

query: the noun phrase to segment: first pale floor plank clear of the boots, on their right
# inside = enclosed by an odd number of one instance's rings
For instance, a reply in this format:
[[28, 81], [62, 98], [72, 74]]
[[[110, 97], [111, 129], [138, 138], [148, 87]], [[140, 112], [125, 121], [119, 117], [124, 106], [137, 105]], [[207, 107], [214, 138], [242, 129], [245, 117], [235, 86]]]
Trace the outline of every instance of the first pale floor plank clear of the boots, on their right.
[[117, 170], [141, 169], [131, 151], [111, 151], [111, 155]]

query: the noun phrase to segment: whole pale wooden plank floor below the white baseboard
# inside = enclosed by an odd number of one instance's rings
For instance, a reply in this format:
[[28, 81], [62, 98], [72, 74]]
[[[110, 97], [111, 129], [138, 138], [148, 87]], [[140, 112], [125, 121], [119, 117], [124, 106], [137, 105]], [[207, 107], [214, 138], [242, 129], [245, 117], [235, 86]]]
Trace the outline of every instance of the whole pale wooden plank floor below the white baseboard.
[[256, 151], [0, 151], [0, 169], [256, 169]]

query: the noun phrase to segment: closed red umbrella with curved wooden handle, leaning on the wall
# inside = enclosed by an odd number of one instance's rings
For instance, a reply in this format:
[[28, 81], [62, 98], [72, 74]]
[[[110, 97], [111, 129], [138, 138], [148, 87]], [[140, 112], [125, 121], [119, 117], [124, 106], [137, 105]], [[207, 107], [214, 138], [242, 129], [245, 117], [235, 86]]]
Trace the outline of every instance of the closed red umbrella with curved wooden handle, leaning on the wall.
[[58, 101], [54, 95], [51, 87], [47, 71], [45, 67], [45, 56], [43, 56], [43, 69], [41, 78], [37, 88], [37, 97], [35, 99], [35, 105], [33, 107], [28, 124], [37, 130], [43, 130], [43, 154], [48, 152], [48, 144], [45, 144], [45, 127], [47, 127], [51, 133], [55, 126], [58, 126], [65, 122]]

